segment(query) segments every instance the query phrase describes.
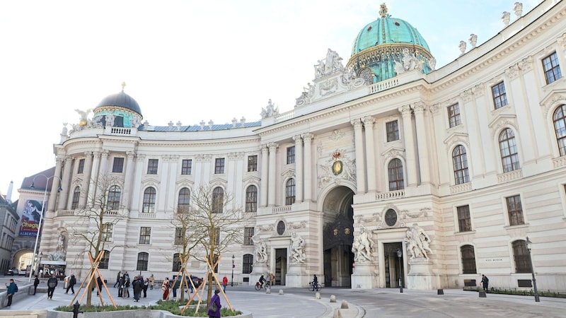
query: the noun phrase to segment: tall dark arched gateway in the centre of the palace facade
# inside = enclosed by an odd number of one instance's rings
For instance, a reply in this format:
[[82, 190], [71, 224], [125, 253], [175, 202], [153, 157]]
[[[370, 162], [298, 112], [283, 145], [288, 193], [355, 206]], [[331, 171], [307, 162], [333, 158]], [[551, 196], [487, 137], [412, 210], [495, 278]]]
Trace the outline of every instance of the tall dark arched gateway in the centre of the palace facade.
[[326, 286], [352, 285], [352, 242], [354, 242], [354, 192], [336, 187], [323, 204], [324, 283]]

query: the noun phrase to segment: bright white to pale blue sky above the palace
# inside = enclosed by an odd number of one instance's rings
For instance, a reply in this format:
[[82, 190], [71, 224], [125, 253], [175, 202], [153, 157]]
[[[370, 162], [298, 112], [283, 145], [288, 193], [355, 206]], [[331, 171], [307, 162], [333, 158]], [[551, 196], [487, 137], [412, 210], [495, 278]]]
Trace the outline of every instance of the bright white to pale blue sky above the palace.
[[[388, 13], [417, 28], [437, 69], [516, 20], [512, 0], [0, 1], [0, 193], [55, 165], [53, 144], [76, 109], [125, 93], [154, 126], [261, 119], [279, 112], [335, 50], [346, 64], [365, 25]], [[523, 15], [541, 3], [526, 0]], [[470, 45], [468, 44], [468, 49]]]

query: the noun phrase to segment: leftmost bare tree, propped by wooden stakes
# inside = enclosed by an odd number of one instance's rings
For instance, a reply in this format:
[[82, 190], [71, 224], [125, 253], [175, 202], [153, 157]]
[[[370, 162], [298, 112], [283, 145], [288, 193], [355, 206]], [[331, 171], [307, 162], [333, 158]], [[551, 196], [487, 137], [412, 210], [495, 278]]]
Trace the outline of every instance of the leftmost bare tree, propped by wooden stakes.
[[[85, 250], [77, 255], [81, 263], [86, 254], [92, 259], [98, 259], [101, 252], [112, 252], [115, 245], [112, 243], [112, 230], [124, 218], [123, 206], [120, 204], [123, 181], [117, 177], [99, 176], [91, 184], [92, 194], [88, 195], [86, 206], [75, 211], [78, 220], [72, 227], [72, 238], [78, 244], [86, 245]], [[108, 262], [110, 253], [105, 253], [101, 261]], [[98, 266], [99, 264], [95, 264]], [[86, 277], [84, 279], [88, 279]], [[92, 288], [96, 282], [91, 280], [86, 285], [88, 290], [86, 306], [91, 307]]]

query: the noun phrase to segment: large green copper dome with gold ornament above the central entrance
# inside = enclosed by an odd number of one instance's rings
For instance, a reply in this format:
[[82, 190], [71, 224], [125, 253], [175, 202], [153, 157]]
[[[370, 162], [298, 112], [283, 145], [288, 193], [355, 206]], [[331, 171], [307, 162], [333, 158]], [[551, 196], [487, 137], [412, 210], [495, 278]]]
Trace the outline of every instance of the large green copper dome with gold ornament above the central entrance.
[[[364, 26], [354, 40], [347, 67], [359, 76], [373, 76], [374, 83], [397, 76], [395, 66], [403, 61], [408, 65], [410, 59], [414, 61], [409, 69], [416, 68], [422, 73], [432, 71], [434, 65], [429, 64], [432, 54], [419, 31], [405, 20], [388, 15], [385, 4], [381, 5], [379, 13], [381, 18]], [[419, 65], [415, 67], [415, 64]]]

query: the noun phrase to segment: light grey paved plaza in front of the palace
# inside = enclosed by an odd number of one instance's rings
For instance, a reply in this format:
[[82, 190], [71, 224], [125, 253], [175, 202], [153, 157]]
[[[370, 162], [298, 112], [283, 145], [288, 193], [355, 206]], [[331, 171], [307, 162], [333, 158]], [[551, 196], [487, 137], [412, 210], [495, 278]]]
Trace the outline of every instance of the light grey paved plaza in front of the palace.
[[[9, 279], [9, 278], [7, 278]], [[16, 278], [19, 286], [27, 280]], [[0, 311], [5, 316], [10, 310], [45, 310], [60, 305], [69, 305], [74, 295], [65, 294], [59, 288], [51, 300], [47, 294], [37, 293], [18, 297], [10, 308]], [[282, 290], [282, 295], [279, 294]], [[18, 293], [25, 293], [20, 288]], [[148, 290], [147, 298], [134, 302], [133, 298], [117, 298], [117, 289], [110, 287], [110, 293], [119, 305], [152, 305], [161, 299], [161, 290]], [[132, 295], [132, 291], [130, 290]], [[93, 303], [99, 303], [96, 293]], [[323, 288], [320, 300], [315, 293], [306, 288], [286, 288], [275, 286], [271, 294], [265, 290], [256, 291], [253, 286], [228, 286], [226, 295], [236, 310], [252, 312], [255, 318], [325, 318], [333, 317], [340, 308], [342, 300], [346, 300], [349, 309], [340, 310], [344, 318], [358, 317], [565, 317], [566, 299], [541, 298], [535, 302], [533, 297], [514, 295], [487, 294], [487, 298], [479, 298], [478, 293], [463, 290], [444, 290], [444, 295], [437, 295], [437, 290], [403, 290], [398, 288], [381, 288], [372, 290], [352, 290], [346, 288]], [[335, 295], [337, 302], [330, 302]], [[21, 296], [21, 295], [20, 295]], [[79, 295], [80, 296], [80, 295]], [[103, 301], [110, 304], [108, 295]], [[83, 301], [84, 302], [84, 301]], [[226, 300], [221, 298], [224, 307]], [[204, 310], [204, 307], [203, 307]], [[79, 315], [81, 317], [81, 315]]]

